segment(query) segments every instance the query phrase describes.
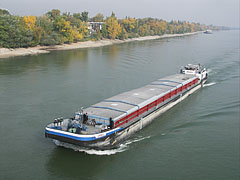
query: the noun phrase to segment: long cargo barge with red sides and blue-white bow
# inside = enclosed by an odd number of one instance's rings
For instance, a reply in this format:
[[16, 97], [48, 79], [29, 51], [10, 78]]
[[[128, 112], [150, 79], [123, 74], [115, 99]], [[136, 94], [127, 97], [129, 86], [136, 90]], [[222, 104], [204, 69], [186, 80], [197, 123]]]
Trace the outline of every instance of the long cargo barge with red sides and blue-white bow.
[[91, 149], [116, 148], [122, 141], [202, 87], [207, 72], [188, 64], [180, 73], [81, 108], [72, 118], [57, 118], [45, 137]]

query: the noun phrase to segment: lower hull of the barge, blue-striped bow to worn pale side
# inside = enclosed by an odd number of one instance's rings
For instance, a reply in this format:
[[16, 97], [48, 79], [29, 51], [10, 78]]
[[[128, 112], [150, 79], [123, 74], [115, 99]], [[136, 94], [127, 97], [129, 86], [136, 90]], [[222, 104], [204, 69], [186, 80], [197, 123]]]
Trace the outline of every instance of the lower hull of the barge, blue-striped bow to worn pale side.
[[142, 128], [150, 124], [154, 119], [161, 116], [164, 112], [178, 104], [179, 102], [186, 99], [189, 95], [193, 94], [195, 91], [199, 90], [202, 85], [207, 81], [207, 79], [202, 80], [201, 83], [197, 84], [196, 86], [192, 87], [184, 94], [180, 94], [174, 99], [172, 99], [167, 104], [159, 107], [155, 111], [151, 112], [150, 114], [142, 117], [135, 123], [129, 125], [125, 128], [117, 128], [115, 131], [112, 130], [110, 134], [104, 134], [102, 137], [94, 138], [93, 140], [79, 140], [77, 138], [73, 138], [67, 135], [61, 135], [57, 133], [53, 133], [50, 129], [45, 130], [45, 136], [48, 138], [52, 138], [55, 140], [59, 140], [61, 142], [75, 144], [84, 148], [93, 148], [93, 149], [113, 149], [119, 146], [121, 142], [131, 137], [136, 132], [140, 131]]

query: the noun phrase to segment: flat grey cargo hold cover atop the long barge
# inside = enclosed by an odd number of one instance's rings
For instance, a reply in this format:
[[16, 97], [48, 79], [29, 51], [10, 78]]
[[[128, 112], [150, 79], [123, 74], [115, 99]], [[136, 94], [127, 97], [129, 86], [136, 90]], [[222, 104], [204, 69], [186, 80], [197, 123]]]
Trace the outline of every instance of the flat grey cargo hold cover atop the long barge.
[[164, 95], [179, 85], [188, 83], [195, 77], [195, 75], [190, 74], [175, 74], [160, 78], [141, 88], [107, 98], [84, 109], [84, 113], [88, 113], [89, 117], [106, 119], [108, 123], [110, 117], [114, 120], [134, 112], [147, 104], [152, 98]]

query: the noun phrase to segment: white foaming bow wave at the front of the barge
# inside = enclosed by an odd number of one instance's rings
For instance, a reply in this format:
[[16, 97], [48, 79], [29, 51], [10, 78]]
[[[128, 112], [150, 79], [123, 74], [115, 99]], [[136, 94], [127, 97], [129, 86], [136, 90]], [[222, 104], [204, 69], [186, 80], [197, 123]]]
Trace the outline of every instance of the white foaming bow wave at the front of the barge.
[[58, 141], [58, 140], [53, 140], [53, 142], [57, 146], [65, 147], [65, 148], [68, 148], [68, 149], [73, 149], [74, 151], [84, 152], [84, 153], [90, 154], [90, 155], [106, 156], [106, 155], [113, 155], [113, 154], [116, 154], [116, 153], [124, 152], [128, 149], [130, 144], [142, 141], [144, 139], [148, 139], [150, 137], [151, 136], [138, 137], [138, 138], [135, 138], [135, 139], [130, 139], [130, 140], [120, 144], [118, 148], [109, 149], [109, 150], [96, 150], [96, 149], [83, 148], [83, 147], [80, 147], [80, 146], [77, 146], [77, 145], [61, 142], [61, 141]]

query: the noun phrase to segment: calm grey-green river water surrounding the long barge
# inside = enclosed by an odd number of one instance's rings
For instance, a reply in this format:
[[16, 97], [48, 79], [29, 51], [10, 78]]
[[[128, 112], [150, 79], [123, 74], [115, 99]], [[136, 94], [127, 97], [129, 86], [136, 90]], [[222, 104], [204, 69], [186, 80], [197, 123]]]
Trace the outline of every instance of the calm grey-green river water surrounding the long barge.
[[[201, 63], [207, 84], [120, 148], [44, 137], [56, 117]], [[239, 31], [0, 60], [0, 179], [239, 179]], [[65, 147], [61, 147], [61, 146]]]

